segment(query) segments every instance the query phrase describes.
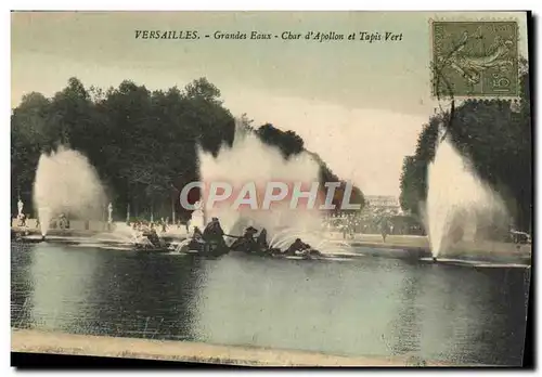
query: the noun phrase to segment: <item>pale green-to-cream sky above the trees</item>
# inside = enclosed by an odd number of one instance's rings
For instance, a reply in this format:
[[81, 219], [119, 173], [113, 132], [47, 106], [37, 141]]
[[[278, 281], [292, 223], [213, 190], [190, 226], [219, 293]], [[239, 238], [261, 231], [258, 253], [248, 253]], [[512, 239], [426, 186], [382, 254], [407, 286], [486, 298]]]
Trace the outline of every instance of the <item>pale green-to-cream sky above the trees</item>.
[[[12, 107], [25, 93], [53, 95], [72, 76], [86, 87], [129, 79], [150, 90], [205, 76], [234, 115], [300, 134], [341, 179], [365, 194], [399, 195], [430, 98], [430, 20], [517, 20], [525, 13], [107, 12], [12, 13]], [[198, 40], [142, 40], [136, 30], [197, 30]], [[402, 34], [401, 41], [214, 40], [253, 30]]]

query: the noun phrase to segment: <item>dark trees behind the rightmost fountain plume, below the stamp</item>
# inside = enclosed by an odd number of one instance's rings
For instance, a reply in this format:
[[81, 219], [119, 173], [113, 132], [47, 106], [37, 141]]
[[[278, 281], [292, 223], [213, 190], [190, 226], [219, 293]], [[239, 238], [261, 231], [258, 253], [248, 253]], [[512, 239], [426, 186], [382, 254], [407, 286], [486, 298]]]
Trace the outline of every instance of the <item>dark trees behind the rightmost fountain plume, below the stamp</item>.
[[[420, 216], [427, 197], [427, 167], [435, 158], [439, 125], [473, 162], [475, 172], [501, 195], [519, 229], [532, 221], [531, 95], [527, 62], [520, 68], [520, 100], [467, 100], [450, 113], [430, 117], [401, 174], [401, 207]], [[453, 180], [453, 177], [450, 177]]]

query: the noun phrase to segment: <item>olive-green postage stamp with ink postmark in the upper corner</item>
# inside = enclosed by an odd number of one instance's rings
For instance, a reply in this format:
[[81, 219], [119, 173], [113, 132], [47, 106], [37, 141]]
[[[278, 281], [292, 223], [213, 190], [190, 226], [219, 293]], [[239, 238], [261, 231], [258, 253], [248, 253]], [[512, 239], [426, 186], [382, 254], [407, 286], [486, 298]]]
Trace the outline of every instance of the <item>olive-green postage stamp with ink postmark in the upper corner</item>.
[[518, 95], [516, 22], [433, 22], [435, 96]]

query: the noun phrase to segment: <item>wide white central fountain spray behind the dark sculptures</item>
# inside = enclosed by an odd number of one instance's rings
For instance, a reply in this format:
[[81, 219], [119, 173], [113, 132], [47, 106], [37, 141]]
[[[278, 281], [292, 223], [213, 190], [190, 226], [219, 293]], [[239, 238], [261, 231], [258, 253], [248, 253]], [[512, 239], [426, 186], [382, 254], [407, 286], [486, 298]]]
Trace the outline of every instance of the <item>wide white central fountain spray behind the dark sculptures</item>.
[[[278, 147], [267, 145], [253, 132], [247, 132], [243, 125], [236, 122], [232, 147], [222, 146], [218, 156], [198, 151], [201, 180], [208, 186], [211, 182], [228, 182], [233, 187], [243, 187], [254, 182], [257, 194], [268, 182], [319, 182], [320, 165], [307, 153], [291, 156], [285, 160]], [[234, 190], [235, 190], [234, 188]], [[304, 188], [307, 190], [307, 188]], [[208, 205], [207, 195], [203, 191], [202, 199]], [[319, 198], [321, 199], [321, 198]], [[289, 208], [288, 203], [273, 203], [272, 210], [243, 208], [231, 209], [231, 204], [221, 204], [204, 208], [207, 217], [220, 219], [227, 234], [241, 234], [244, 227], [253, 225], [258, 230], [266, 227], [270, 237], [270, 247], [282, 247], [300, 237], [321, 252], [328, 252], [344, 246], [325, 242], [322, 235], [322, 217], [318, 209], [299, 206]], [[261, 197], [258, 197], [261, 200]], [[229, 240], [232, 242], [232, 240]]]

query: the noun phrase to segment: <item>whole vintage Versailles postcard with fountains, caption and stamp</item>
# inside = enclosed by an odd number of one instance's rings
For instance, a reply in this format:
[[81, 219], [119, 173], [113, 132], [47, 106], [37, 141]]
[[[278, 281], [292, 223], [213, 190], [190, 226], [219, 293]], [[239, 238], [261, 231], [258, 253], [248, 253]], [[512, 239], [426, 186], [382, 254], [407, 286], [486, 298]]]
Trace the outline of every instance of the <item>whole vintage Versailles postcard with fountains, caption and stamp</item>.
[[12, 351], [520, 366], [526, 12], [12, 12]]

